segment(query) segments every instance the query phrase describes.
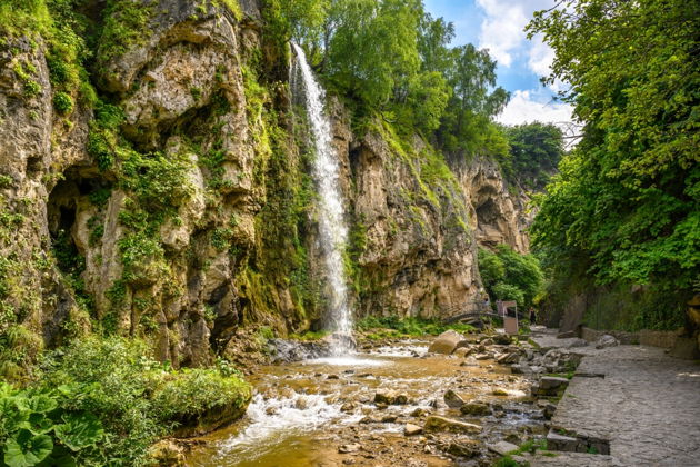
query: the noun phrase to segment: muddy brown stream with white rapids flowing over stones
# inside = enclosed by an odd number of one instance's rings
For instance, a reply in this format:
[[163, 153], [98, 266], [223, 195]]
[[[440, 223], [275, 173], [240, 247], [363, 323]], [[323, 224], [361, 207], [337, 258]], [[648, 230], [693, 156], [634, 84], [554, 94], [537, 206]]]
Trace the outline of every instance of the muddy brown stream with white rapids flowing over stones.
[[[440, 435], [403, 435], [406, 423], [422, 426], [427, 415], [482, 425], [483, 433], [471, 437], [482, 441], [514, 440], [543, 430], [522, 377], [492, 360], [472, 359], [471, 366], [463, 366], [463, 358], [427, 355], [428, 345], [406, 341], [351, 358], [262, 367], [251, 378], [257, 394], [246, 417], [201, 438], [188, 465], [456, 465], [443, 453]], [[493, 395], [496, 388], [507, 395]], [[466, 418], [444, 405], [448, 389], [467, 401], [493, 404], [494, 415]], [[376, 405], [374, 395], [388, 390], [404, 394], [408, 404]]]

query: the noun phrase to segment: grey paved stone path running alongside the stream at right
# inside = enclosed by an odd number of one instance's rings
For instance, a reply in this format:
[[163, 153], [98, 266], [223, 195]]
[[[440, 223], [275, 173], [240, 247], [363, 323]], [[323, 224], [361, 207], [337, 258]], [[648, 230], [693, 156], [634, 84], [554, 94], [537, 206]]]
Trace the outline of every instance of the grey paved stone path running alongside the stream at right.
[[[552, 339], [564, 340], [533, 340]], [[552, 428], [608, 440], [610, 456], [562, 453], [537, 456], [532, 466], [700, 467], [700, 365], [654, 347], [571, 350], [586, 355], [577, 374], [604, 377], [574, 376]]]

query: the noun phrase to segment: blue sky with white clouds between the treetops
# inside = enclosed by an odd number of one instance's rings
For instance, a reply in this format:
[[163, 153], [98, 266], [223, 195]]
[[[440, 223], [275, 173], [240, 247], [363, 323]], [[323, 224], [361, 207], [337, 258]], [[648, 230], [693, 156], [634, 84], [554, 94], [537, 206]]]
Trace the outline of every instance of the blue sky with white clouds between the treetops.
[[453, 46], [473, 43], [489, 49], [498, 61], [498, 85], [511, 92], [511, 101], [497, 120], [518, 125], [539, 120], [566, 123], [571, 108], [553, 101], [562, 83], [543, 87], [552, 50], [540, 38], [523, 32], [532, 12], [553, 7], [554, 0], [423, 0], [433, 17], [454, 23]]

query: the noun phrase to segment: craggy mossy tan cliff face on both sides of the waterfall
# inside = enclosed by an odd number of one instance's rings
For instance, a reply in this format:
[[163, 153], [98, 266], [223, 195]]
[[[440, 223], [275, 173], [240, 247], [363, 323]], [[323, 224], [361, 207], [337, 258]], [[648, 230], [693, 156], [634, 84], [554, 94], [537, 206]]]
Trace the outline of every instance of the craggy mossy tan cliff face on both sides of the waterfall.
[[[321, 317], [289, 51], [267, 42], [256, 2], [224, 3], [144, 3], [141, 39], [98, 53], [99, 100], [73, 91], [68, 111], [40, 36], [0, 46], [0, 332], [40, 336], [28, 355], [101, 328], [198, 366], [254, 349], [261, 326]], [[124, 26], [100, 4], [101, 23]], [[481, 287], [478, 242], [527, 250], [496, 166], [451, 171], [418, 138], [379, 122], [354, 135], [340, 105], [332, 113], [358, 314], [449, 314]]]

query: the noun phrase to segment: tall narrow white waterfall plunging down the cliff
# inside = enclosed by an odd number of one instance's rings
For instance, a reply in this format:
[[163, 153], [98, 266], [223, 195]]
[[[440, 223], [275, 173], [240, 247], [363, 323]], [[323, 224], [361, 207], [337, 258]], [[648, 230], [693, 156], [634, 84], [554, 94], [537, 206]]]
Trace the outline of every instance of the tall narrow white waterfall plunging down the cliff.
[[[292, 91], [299, 89], [311, 127], [314, 158], [312, 177], [319, 200], [319, 240], [329, 284], [329, 309], [327, 317], [336, 338], [331, 340], [336, 356], [352, 350], [352, 312], [348, 306], [348, 286], [343, 268], [343, 249], [348, 241], [348, 227], [344, 220], [342, 195], [340, 192], [340, 167], [332, 145], [331, 125], [323, 109], [324, 92], [316, 80], [301, 47], [292, 43], [297, 60], [292, 66]], [[294, 86], [301, 78], [301, 86]]]

